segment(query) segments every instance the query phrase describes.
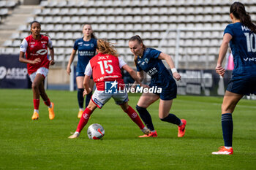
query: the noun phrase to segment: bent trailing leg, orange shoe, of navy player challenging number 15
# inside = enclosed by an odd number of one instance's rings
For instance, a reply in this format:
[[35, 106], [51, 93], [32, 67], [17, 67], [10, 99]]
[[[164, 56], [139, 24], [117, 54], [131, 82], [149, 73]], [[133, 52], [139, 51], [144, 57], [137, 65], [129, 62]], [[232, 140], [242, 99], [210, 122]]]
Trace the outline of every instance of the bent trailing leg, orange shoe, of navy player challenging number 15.
[[179, 119], [176, 115], [169, 113], [173, 104], [173, 100], [162, 100], [159, 102], [159, 118], [160, 120], [168, 123], [178, 125], [178, 137], [183, 137], [186, 132], [187, 120]]

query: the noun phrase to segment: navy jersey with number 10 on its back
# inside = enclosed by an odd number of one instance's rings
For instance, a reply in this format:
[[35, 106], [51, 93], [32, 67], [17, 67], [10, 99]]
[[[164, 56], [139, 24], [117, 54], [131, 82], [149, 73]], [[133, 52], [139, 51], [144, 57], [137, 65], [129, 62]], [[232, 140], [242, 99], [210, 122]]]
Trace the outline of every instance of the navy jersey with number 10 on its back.
[[234, 76], [256, 76], [256, 34], [242, 23], [227, 25], [224, 34], [230, 34], [230, 48], [235, 68]]

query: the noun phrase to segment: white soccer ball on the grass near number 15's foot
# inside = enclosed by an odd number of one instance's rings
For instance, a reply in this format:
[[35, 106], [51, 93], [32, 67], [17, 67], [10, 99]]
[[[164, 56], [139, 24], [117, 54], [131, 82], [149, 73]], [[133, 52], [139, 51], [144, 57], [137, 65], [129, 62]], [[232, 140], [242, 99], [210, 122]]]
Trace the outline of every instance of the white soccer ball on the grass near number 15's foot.
[[87, 129], [87, 135], [89, 137], [89, 139], [101, 139], [105, 134], [105, 130], [102, 127], [102, 125], [99, 125], [97, 123], [94, 123], [92, 125], [90, 125]]

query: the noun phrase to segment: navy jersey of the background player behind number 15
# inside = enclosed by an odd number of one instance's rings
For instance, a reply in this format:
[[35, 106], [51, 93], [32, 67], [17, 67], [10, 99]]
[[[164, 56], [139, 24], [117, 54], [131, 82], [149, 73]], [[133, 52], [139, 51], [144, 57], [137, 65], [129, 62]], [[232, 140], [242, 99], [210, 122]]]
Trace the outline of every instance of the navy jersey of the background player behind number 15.
[[83, 38], [75, 41], [74, 50], [78, 50], [78, 66], [76, 72], [84, 72], [87, 64], [96, 53], [97, 39], [86, 42]]

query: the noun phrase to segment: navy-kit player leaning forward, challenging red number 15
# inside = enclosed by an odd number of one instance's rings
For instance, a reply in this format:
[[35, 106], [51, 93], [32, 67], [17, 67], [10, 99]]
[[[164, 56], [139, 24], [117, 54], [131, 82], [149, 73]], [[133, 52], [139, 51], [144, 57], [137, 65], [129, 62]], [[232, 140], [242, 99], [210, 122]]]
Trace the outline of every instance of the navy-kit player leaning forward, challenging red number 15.
[[[170, 55], [162, 53], [159, 50], [143, 45], [143, 40], [140, 39], [140, 36], [132, 36], [129, 39], [129, 48], [135, 56], [135, 65], [140, 81], [143, 80], [143, 72], [146, 72], [151, 77], [149, 86], [162, 88], [162, 93], [143, 93], [140, 96], [136, 109], [151, 133], [139, 137], [157, 137], [157, 131], [154, 129], [151, 115], [146, 108], [159, 98], [160, 120], [178, 125], [178, 137], [183, 137], [187, 121], [184, 119], [180, 120], [176, 115], [169, 113], [173, 104], [173, 98], [176, 98], [177, 95], [177, 85], [173, 77], [176, 80], [181, 80], [181, 76], [175, 69], [172, 58]], [[167, 61], [173, 75], [168, 72], [162, 60]]]

